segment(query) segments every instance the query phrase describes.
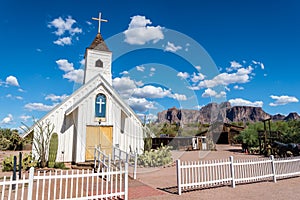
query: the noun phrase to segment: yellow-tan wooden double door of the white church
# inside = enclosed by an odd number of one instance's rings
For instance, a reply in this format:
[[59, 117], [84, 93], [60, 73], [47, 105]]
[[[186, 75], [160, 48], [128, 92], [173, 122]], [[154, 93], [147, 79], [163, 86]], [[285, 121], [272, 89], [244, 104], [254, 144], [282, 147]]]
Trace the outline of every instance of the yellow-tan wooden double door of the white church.
[[93, 160], [95, 147], [100, 146], [101, 151], [112, 154], [113, 127], [112, 126], [87, 126], [86, 127], [86, 152], [85, 160]]

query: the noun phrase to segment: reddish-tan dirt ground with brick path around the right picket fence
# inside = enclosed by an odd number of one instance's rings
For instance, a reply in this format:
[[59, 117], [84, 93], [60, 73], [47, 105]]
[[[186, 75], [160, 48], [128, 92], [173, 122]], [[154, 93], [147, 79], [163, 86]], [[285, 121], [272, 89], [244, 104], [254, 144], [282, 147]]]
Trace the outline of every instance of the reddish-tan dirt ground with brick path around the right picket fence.
[[[240, 153], [240, 147], [221, 145], [212, 152], [173, 152], [174, 160], [182, 161], [253, 158], [257, 156]], [[280, 180], [277, 183], [260, 182], [238, 185], [236, 188], [224, 186], [185, 192], [177, 195], [176, 167], [139, 168], [137, 180], [129, 180], [129, 199], [135, 200], [176, 200], [176, 199], [222, 199], [222, 200], [256, 200], [264, 199], [300, 199], [300, 177]]]

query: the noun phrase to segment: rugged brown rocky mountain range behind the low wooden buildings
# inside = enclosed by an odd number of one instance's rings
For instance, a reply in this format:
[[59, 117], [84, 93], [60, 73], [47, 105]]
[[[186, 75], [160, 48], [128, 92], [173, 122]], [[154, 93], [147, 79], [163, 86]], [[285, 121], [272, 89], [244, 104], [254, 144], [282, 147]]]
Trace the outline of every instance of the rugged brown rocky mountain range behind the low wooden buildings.
[[169, 108], [157, 114], [158, 122], [172, 123], [198, 123], [209, 124], [215, 121], [221, 122], [258, 122], [271, 118], [272, 120], [294, 120], [300, 119], [297, 113], [290, 113], [287, 116], [276, 114], [270, 115], [261, 107], [231, 106], [229, 102], [221, 104], [209, 103], [200, 110]]

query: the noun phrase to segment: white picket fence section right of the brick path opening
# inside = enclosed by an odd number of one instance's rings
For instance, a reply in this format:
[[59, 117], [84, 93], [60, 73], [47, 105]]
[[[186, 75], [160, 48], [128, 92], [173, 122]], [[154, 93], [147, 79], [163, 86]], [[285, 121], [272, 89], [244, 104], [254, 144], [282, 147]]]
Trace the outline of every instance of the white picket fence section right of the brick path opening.
[[182, 191], [216, 186], [274, 181], [300, 175], [300, 158], [260, 158], [252, 160], [176, 161], [178, 194]]

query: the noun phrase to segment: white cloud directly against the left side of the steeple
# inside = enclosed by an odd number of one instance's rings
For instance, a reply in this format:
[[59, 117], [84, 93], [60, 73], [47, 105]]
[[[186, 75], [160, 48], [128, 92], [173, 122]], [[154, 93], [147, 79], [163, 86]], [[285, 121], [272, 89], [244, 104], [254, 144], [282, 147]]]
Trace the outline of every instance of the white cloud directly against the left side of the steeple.
[[83, 82], [84, 71], [82, 69], [74, 69], [73, 63], [69, 63], [69, 61], [66, 59], [57, 60], [56, 64], [58, 65], [59, 69], [66, 72], [63, 75], [63, 78], [75, 83]]

